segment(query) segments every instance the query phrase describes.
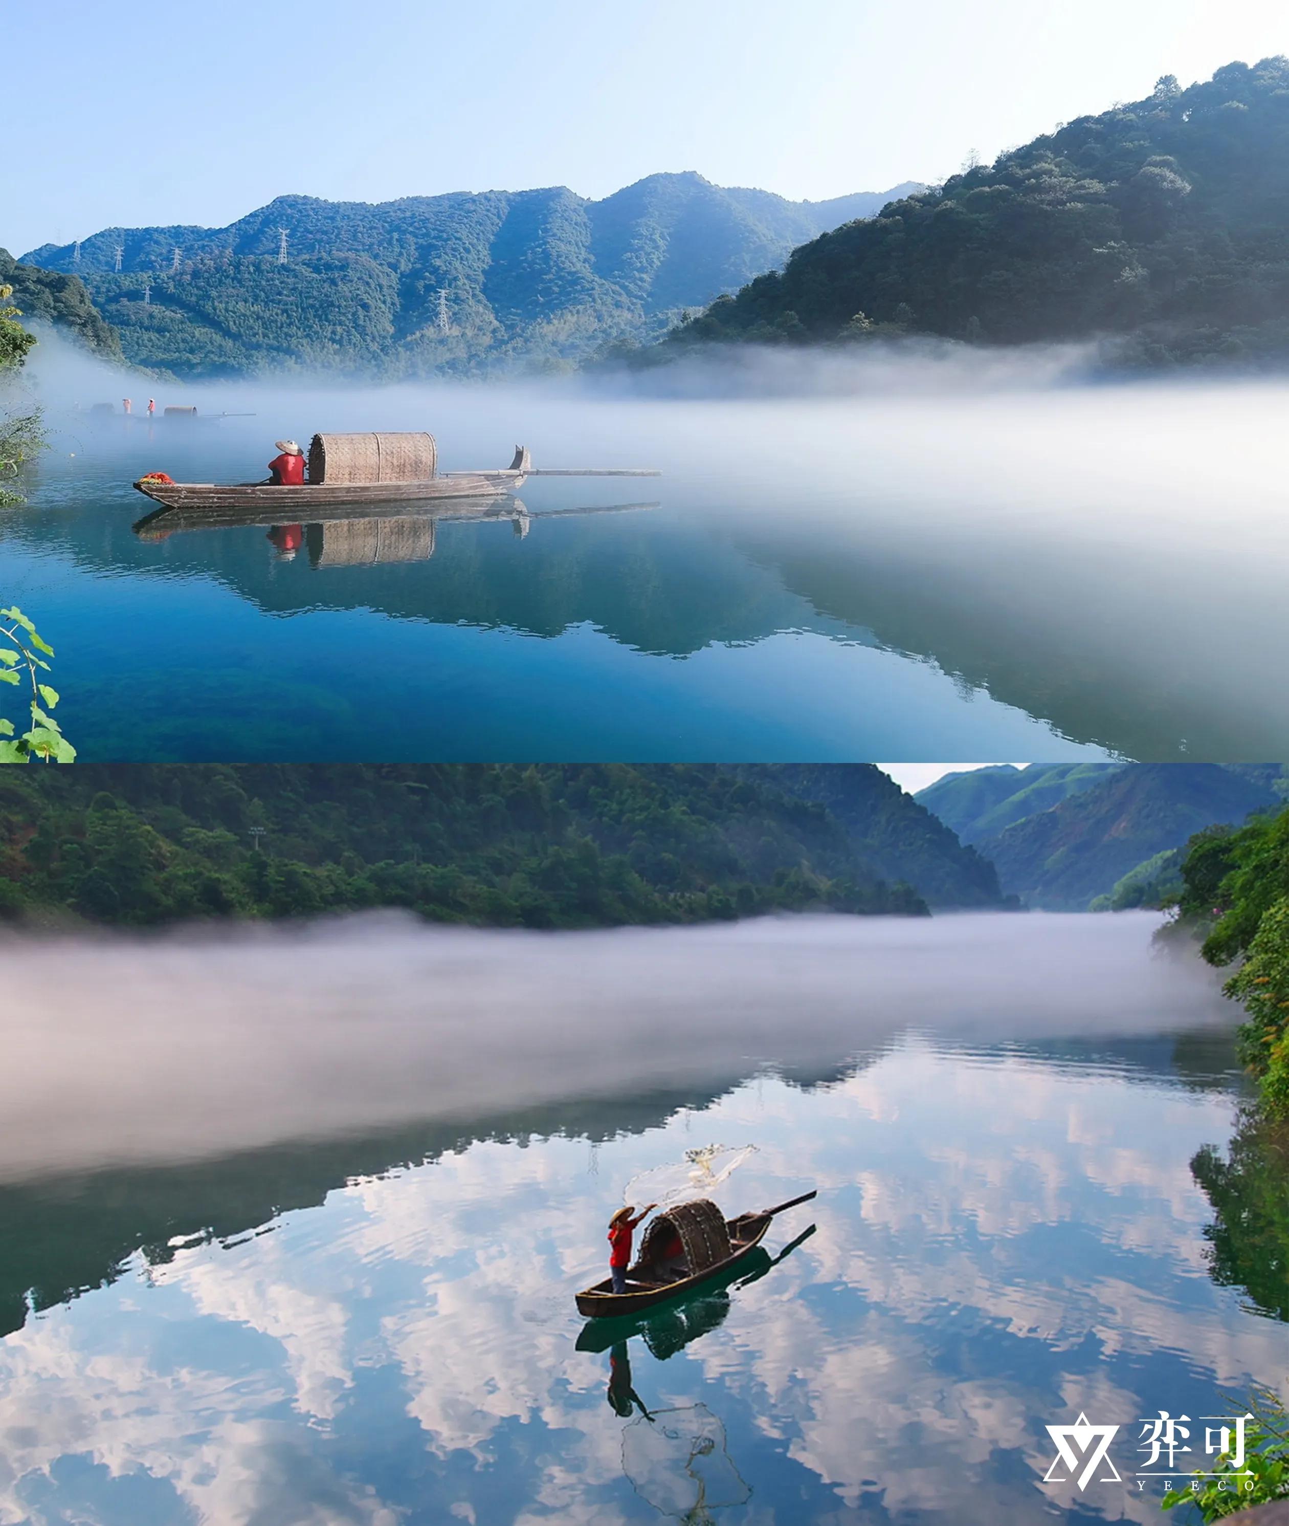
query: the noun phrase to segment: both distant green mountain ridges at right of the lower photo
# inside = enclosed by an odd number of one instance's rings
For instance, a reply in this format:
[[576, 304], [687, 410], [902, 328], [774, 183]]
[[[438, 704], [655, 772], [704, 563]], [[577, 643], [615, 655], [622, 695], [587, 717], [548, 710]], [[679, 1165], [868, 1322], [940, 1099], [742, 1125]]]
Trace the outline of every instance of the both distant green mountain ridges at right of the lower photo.
[[[1120, 882], [1211, 826], [1239, 826], [1283, 801], [1280, 765], [1127, 763], [981, 769], [946, 775], [915, 798], [941, 819], [964, 821], [998, 868], [1002, 890], [1045, 911], [1085, 911]], [[990, 800], [999, 787], [1010, 794]], [[1028, 809], [1016, 816], [1017, 810]], [[1014, 819], [1007, 819], [1008, 812]], [[992, 835], [981, 824], [1004, 823]], [[1123, 887], [1127, 890], [1127, 887]]]

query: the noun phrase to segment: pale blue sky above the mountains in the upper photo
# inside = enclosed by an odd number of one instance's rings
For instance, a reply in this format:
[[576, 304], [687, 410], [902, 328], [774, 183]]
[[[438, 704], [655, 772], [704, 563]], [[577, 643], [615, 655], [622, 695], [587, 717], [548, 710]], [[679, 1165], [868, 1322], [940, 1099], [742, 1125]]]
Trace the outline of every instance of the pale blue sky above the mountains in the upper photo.
[[822, 198], [1289, 50], [1269, 0], [102, 0], [0, 11], [0, 246], [659, 169]]

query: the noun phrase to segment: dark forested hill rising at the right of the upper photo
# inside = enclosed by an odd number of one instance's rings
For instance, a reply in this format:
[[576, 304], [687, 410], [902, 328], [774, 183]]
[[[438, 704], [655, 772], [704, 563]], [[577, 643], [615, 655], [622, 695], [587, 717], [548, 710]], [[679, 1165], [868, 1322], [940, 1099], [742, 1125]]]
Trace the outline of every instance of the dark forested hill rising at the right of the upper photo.
[[670, 336], [1133, 336], [1140, 363], [1289, 356], [1289, 60], [1082, 116], [825, 232]]

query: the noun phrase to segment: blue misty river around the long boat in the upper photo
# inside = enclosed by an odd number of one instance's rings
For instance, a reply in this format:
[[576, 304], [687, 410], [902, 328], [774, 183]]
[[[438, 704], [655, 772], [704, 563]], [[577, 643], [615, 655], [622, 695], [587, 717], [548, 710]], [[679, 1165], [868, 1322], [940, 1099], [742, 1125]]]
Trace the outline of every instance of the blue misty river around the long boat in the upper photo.
[[[1013, 366], [813, 397], [156, 382], [253, 417], [148, 424], [50, 340], [55, 449], [0, 520], [5, 597], [58, 652], [85, 760], [1286, 755], [1289, 392]], [[291, 523], [284, 490], [282, 523], [230, 528], [148, 519], [130, 485], [256, 481], [276, 438], [372, 427], [433, 430], [444, 470], [522, 443], [664, 476], [358, 525]]]

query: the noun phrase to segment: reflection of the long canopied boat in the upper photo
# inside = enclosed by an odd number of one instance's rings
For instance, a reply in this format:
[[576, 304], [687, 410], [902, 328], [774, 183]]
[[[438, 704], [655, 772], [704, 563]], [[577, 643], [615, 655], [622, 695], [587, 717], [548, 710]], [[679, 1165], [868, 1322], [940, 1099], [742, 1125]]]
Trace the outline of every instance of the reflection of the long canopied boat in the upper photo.
[[657, 508], [657, 504], [601, 504], [587, 508], [551, 508], [540, 514], [514, 496], [487, 504], [461, 502], [430, 511], [424, 502], [362, 504], [328, 508], [307, 523], [270, 523], [262, 508], [183, 510], [159, 508], [133, 525], [140, 540], [159, 542], [171, 536], [211, 530], [264, 528], [273, 559], [290, 562], [304, 548], [314, 568], [375, 566], [392, 562], [429, 562], [435, 554], [439, 523], [484, 523], [508, 520], [523, 540], [534, 520], [567, 519], [587, 514], [627, 514]]

